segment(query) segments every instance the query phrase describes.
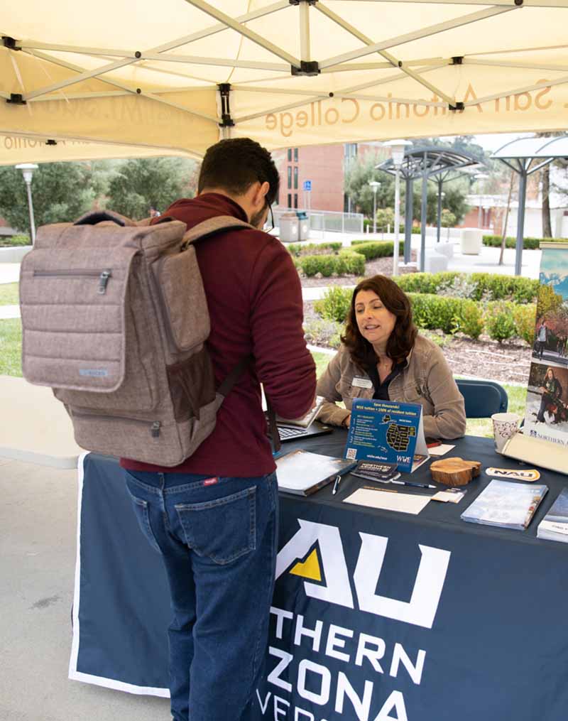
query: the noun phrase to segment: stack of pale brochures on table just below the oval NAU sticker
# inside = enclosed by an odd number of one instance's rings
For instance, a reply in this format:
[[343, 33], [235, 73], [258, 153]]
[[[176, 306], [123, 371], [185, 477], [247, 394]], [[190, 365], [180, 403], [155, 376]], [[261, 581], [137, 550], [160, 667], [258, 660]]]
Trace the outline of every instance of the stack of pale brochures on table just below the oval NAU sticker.
[[493, 480], [463, 511], [461, 518], [470, 523], [523, 531], [548, 490], [546, 485]]

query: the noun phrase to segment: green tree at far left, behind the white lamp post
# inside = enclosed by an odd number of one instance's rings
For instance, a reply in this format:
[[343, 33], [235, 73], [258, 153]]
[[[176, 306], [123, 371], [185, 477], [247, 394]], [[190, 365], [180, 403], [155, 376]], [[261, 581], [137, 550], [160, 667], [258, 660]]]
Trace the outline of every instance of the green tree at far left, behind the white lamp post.
[[[104, 192], [104, 183], [91, 163], [43, 163], [33, 174], [35, 225], [74, 221]], [[30, 215], [22, 172], [0, 168], [0, 216], [15, 229], [30, 234]]]

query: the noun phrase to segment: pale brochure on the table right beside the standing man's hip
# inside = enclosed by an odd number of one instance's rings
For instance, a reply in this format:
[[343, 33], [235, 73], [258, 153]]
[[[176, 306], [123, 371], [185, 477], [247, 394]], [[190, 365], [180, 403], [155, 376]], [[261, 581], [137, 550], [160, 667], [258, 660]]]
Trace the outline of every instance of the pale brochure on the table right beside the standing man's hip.
[[292, 451], [276, 460], [278, 488], [287, 493], [307, 496], [349, 472], [355, 463], [342, 458], [322, 456], [309, 451]]

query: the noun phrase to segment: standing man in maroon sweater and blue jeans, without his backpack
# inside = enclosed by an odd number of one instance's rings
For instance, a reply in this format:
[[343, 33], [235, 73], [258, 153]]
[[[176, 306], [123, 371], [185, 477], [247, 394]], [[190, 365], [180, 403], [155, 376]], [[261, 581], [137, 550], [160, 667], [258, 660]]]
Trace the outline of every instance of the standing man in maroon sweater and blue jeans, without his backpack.
[[167, 570], [175, 721], [249, 717], [278, 550], [278, 485], [259, 383], [283, 417], [301, 417], [314, 403], [298, 273], [280, 241], [256, 229], [278, 185], [258, 143], [221, 141], [205, 154], [198, 196], [177, 200], [152, 221], [174, 218], [190, 230], [223, 216], [254, 226], [195, 242], [216, 384], [242, 369], [216, 428], [179, 466], [120, 461], [143, 533]]

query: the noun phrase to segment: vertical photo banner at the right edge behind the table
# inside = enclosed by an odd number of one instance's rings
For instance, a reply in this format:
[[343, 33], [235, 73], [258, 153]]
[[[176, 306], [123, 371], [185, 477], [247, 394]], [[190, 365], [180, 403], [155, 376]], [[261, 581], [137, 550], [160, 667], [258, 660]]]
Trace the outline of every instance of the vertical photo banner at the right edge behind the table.
[[525, 433], [568, 446], [568, 243], [541, 243]]

